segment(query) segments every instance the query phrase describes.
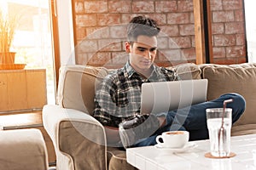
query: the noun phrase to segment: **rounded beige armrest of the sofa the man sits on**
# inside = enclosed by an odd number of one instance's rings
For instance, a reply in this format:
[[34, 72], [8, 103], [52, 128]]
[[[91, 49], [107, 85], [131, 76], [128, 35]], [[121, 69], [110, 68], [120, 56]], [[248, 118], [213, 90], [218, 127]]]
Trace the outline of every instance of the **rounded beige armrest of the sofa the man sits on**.
[[[59, 105], [44, 105], [43, 123], [55, 145], [59, 169], [107, 169], [106, 134], [94, 117]], [[58, 162], [58, 156], [67, 162]]]

